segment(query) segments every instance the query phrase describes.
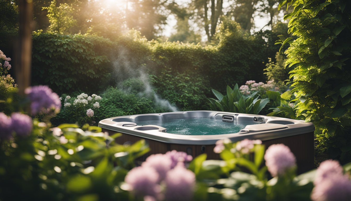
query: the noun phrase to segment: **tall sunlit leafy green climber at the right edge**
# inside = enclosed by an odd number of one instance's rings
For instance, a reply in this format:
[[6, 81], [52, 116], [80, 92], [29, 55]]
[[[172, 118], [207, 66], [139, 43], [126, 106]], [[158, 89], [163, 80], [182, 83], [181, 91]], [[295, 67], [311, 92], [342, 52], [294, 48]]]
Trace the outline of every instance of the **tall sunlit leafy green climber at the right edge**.
[[[280, 6], [287, 1], [283, 1]], [[316, 126], [320, 151], [351, 159], [350, 1], [291, 1], [289, 32], [298, 38], [285, 51], [297, 115]], [[284, 39], [284, 41], [283, 41]]]

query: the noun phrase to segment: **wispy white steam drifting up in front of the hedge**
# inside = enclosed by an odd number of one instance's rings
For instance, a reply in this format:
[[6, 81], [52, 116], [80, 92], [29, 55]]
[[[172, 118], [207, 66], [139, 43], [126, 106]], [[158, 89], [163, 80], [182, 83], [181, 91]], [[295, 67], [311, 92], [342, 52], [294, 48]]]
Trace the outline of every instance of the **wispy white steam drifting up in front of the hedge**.
[[178, 108], [172, 106], [168, 100], [162, 99], [157, 95], [148, 79], [148, 74], [144, 69], [150, 68], [152, 65], [148, 59], [135, 58], [129, 50], [125, 48], [118, 49], [118, 57], [113, 61], [113, 74], [116, 84], [121, 87], [121, 83], [129, 78], [138, 78], [144, 84], [144, 91], [138, 93], [138, 96], [153, 97], [155, 105], [170, 109], [172, 112], [178, 111]]

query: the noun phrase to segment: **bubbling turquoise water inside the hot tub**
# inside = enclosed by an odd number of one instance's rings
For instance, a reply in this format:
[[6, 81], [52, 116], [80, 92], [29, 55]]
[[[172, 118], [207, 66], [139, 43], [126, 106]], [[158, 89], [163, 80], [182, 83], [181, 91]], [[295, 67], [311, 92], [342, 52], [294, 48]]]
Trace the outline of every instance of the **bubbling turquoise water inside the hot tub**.
[[210, 118], [188, 118], [188, 119], [170, 119], [164, 121], [137, 121], [140, 126], [157, 125], [167, 128], [167, 133], [181, 135], [218, 135], [237, 133], [246, 125], [253, 124], [247, 121], [246, 124], [234, 124], [223, 122], [221, 119]]

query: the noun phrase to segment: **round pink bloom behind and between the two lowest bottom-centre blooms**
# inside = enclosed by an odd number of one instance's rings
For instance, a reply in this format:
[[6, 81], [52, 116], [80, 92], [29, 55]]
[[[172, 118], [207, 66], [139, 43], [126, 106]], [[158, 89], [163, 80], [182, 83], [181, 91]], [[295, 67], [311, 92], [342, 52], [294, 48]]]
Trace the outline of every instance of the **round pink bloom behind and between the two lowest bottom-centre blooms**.
[[141, 166], [155, 169], [159, 175], [160, 182], [164, 180], [168, 170], [171, 169], [171, 164], [172, 160], [170, 156], [159, 153], [147, 157], [145, 162], [141, 164]]

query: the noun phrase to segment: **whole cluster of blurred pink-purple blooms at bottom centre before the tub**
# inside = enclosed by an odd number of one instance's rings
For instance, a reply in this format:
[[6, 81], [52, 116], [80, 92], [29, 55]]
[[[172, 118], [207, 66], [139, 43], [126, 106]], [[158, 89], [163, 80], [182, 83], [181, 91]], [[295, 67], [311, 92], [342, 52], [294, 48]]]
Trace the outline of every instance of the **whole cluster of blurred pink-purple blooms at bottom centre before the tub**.
[[151, 155], [140, 167], [128, 172], [125, 182], [139, 199], [191, 200], [196, 183], [195, 174], [187, 170], [184, 164], [191, 160], [192, 157], [185, 152], [175, 150]]

